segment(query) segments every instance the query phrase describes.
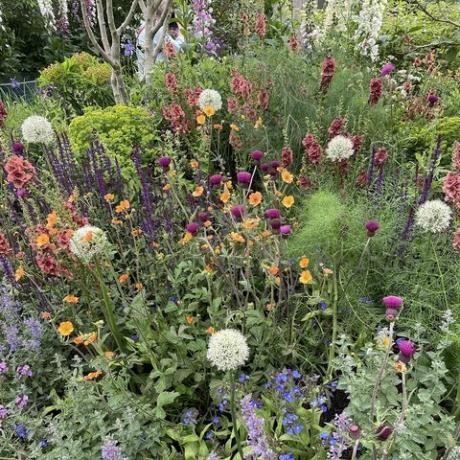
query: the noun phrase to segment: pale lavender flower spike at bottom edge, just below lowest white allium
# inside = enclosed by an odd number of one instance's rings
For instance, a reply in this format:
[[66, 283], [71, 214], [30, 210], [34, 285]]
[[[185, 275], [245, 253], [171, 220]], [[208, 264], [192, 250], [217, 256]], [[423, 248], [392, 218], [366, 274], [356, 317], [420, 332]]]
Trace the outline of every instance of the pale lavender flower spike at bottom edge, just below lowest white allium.
[[251, 395], [246, 395], [241, 400], [241, 414], [248, 429], [248, 444], [252, 452], [247, 459], [271, 460], [276, 457], [275, 452], [270, 448], [267, 435], [264, 432], [264, 420], [258, 417]]

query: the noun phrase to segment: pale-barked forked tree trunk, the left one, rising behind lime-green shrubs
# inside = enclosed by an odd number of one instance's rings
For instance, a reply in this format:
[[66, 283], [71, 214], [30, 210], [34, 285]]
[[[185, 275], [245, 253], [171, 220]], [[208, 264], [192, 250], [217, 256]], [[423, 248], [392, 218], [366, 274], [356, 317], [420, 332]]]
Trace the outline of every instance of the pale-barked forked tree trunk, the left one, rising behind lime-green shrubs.
[[112, 86], [113, 97], [117, 104], [128, 104], [129, 95], [126, 90], [126, 84], [123, 77], [121, 65], [121, 36], [126, 27], [131, 22], [133, 15], [138, 6], [139, 0], [133, 0], [126, 18], [117, 28], [113, 15], [112, 0], [96, 0], [96, 16], [101, 36], [101, 43], [97, 40], [86, 9], [86, 1], [80, 0], [80, 6], [83, 16], [83, 24], [91, 44], [96, 48], [102, 59], [112, 67], [112, 77], [110, 83]]

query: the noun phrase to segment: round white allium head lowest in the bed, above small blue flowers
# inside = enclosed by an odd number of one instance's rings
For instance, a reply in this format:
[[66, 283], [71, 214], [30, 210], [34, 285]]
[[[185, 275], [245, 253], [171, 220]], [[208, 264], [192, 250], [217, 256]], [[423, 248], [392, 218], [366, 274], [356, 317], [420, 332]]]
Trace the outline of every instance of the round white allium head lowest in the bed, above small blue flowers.
[[236, 329], [222, 329], [211, 336], [208, 359], [220, 371], [232, 371], [243, 366], [249, 357], [244, 335]]

